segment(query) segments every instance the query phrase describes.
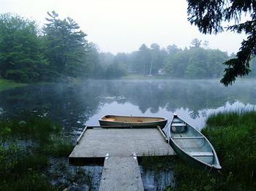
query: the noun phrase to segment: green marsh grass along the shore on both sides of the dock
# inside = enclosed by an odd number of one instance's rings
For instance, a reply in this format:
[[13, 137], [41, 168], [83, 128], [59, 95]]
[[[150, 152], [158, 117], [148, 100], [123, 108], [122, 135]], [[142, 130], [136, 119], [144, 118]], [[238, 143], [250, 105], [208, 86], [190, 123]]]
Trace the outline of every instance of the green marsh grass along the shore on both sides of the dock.
[[[156, 172], [173, 169], [175, 184], [170, 185], [176, 186], [167, 190], [253, 190], [255, 124], [256, 112], [208, 117], [202, 132], [217, 151], [222, 165], [217, 173], [192, 168], [178, 157], [145, 159], [141, 165]], [[67, 156], [73, 147], [71, 138], [47, 117], [24, 112], [18, 118], [0, 119], [0, 138], [0, 190], [63, 190], [73, 182], [90, 184], [83, 170], [70, 172]]]

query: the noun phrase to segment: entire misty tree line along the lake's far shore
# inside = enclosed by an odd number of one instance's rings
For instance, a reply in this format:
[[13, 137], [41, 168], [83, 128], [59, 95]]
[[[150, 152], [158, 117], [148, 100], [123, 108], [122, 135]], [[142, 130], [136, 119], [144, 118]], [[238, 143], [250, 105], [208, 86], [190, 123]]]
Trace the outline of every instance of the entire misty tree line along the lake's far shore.
[[[0, 15], [0, 78], [15, 82], [56, 82], [72, 79], [114, 79], [124, 76], [211, 79], [222, 77], [222, 64], [236, 55], [214, 50], [192, 39], [191, 46], [142, 44], [125, 53], [101, 52], [86, 39], [75, 20], [48, 12], [40, 28], [35, 20]], [[252, 59], [250, 77], [256, 77]]]

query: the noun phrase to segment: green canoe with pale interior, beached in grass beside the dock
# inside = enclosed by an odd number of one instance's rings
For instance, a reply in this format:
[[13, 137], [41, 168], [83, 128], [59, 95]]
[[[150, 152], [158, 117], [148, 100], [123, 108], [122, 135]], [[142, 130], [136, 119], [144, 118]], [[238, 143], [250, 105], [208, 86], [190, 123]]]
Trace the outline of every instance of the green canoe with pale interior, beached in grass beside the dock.
[[170, 145], [179, 157], [197, 168], [222, 168], [208, 139], [176, 114], [170, 124]]

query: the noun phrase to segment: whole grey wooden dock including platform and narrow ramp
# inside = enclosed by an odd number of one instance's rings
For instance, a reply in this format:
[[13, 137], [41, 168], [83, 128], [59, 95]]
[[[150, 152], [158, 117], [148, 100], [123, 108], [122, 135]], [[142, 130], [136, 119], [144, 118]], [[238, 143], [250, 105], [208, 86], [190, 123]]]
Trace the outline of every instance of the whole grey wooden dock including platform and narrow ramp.
[[143, 190], [137, 157], [176, 155], [160, 128], [86, 127], [69, 163], [104, 163], [99, 190]]

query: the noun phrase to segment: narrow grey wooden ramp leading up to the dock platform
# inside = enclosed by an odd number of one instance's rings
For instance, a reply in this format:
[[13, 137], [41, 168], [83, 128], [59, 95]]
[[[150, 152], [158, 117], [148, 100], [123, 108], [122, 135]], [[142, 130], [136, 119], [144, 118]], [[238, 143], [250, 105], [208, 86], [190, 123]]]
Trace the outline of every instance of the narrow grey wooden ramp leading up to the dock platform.
[[144, 190], [137, 158], [110, 155], [105, 159], [99, 190]]

